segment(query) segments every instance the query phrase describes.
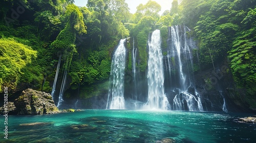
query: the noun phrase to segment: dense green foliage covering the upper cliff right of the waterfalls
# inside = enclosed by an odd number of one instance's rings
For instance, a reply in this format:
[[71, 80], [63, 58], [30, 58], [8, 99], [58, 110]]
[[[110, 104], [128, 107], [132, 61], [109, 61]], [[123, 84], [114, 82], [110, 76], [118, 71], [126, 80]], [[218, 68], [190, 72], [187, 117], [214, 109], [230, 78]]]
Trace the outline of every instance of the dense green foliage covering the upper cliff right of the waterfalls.
[[209, 68], [228, 57], [236, 86], [247, 89], [245, 100], [255, 107], [255, 0], [183, 0], [180, 9], [181, 20], [199, 41], [200, 66]]

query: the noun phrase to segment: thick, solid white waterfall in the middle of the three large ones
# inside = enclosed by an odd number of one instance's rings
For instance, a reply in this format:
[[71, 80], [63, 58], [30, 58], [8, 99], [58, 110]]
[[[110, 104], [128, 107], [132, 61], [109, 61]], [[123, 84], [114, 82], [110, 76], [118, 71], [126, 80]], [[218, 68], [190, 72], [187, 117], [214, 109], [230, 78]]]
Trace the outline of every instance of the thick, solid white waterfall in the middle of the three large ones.
[[161, 50], [160, 30], [152, 33], [148, 40], [148, 97], [145, 109], [169, 109], [169, 102], [164, 94], [163, 55]]

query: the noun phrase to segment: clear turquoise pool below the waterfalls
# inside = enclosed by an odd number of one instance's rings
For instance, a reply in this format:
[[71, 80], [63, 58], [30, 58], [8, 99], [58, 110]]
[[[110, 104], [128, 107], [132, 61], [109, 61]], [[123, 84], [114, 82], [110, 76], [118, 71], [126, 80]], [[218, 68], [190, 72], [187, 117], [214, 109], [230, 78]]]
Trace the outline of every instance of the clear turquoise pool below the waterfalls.
[[157, 110], [9, 115], [8, 139], [2, 134], [0, 142], [256, 142], [256, 125], [236, 120], [249, 115]]

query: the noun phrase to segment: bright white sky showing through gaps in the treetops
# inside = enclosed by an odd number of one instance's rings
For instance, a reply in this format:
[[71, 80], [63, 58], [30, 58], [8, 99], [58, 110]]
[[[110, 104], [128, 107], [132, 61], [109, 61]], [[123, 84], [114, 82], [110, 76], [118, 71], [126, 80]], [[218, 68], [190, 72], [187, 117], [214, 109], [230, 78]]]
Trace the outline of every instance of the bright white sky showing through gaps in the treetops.
[[[79, 7], [84, 7], [87, 4], [87, 0], [74, 0], [74, 1], [75, 1], [75, 5]], [[149, 0], [125, 0], [125, 3], [128, 4], [130, 8], [130, 12], [134, 14], [139, 4], [145, 5], [148, 1]], [[161, 11], [159, 12], [159, 14], [161, 15], [165, 10], [170, 10], [170, 7], [172, 7], [173, 0], [155, 0], [155, 2], [161, 5]]]

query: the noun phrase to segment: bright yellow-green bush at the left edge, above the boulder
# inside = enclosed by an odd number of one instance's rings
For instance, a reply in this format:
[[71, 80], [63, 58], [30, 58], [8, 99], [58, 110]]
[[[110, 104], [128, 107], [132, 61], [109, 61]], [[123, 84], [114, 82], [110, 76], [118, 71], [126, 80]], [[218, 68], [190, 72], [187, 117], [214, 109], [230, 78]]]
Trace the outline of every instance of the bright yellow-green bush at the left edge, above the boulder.
[[0, 79], [3, 84], [12, 83], [15, 87], [24, 74], [22, 69], [36, 58], [36, 51], [12, 38], [0, 39], [0, 47]]

